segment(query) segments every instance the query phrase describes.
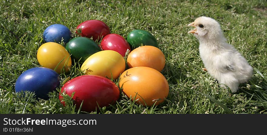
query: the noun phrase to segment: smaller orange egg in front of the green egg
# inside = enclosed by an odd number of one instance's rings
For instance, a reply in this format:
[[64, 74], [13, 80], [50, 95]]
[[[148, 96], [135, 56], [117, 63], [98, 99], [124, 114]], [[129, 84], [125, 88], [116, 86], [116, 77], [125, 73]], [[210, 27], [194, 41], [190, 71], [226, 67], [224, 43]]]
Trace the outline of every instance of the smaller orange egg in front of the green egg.
[[130, 52], [127, 58], [128, 67], [151, 67], [162, 71], [165, 66], [165, 56], [154, 46], [140, 46]]

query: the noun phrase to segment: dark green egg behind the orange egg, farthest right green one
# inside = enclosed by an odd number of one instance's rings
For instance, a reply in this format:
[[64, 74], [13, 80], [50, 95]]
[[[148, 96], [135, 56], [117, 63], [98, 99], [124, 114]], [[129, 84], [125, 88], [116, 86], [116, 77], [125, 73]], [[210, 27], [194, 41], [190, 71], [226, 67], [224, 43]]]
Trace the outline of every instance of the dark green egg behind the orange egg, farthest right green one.
[[127, 41], [133, 49], [141, 46], [141, 44], [158, 47], [156, 38], [150, 32], [145, 30], [131, 31], [127, 35]]

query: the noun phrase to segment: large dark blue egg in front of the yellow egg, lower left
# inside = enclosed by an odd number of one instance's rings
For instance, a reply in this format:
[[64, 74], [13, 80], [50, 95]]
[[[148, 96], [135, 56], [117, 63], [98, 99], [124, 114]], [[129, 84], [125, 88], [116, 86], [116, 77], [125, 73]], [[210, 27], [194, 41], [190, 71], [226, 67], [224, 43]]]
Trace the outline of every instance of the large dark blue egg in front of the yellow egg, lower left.
[[32, 91], [37, 98], [48, 99], [48, 93], [59, 87], [59, 74], [46, 67], [24, 71], [17, 79], [15, 91]]

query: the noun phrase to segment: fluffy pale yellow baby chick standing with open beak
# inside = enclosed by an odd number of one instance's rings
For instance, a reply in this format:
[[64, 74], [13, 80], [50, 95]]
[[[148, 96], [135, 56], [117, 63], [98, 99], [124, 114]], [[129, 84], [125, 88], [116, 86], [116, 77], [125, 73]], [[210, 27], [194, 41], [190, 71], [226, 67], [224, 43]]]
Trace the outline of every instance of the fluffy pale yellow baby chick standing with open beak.
[[[195, 27], [188, 33], [193, 33], [198, 39], [200, 57], [208, 73], [235, 93], [240, 83], [245, 83], [252, 77], [253, 68], [226, 42], [219, 23], [214, 19], [202, 16], [188, 26]], [[224, 85], [221, 87], [225, 88]]]

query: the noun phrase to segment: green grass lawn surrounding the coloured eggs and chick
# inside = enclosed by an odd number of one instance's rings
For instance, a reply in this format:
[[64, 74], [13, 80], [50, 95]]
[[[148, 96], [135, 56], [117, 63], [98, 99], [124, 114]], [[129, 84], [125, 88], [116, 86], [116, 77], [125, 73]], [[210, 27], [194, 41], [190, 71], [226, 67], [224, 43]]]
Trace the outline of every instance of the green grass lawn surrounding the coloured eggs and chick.
[[[252, 79], [241, 84], [239, 92], [218, 87], [207, 72], [198, 53], [198, 40], [187, 32], [189, 23], [199, 16], [214, 18], [221, 24], [228, 43], [254, 67]], [[266, 114], [267, 113], [267, 2], [259, 1], [55, 1], [4, 0], [0, 3], [0, 113], [73, 114], [75, 109], [66, 96], [66, 106], [58, 99], [59, 89], [49, 100], [35, 99], [33, 93], [15, 93], [16, 79], [32, 67], [40, 67], [36, 53], [42, 33], [52, 24], [63, 24], [76, 36], [81, 22], [104, 21], [111, 33], [124, 38], [134, 29], [150, 31], [164, 52], [162, 74], [170, 92], [160, 105], [144, 107], [121, 94], [117, 103], [98, 112], [116, 114]], [[63, 44], [64, 45], [64, 44]], [[66, 78], [81, 75], [79, 64]], [[115, 80], [117, 83], [118, 80]], [[78, 107], [79, 108], [79, 107]]]

